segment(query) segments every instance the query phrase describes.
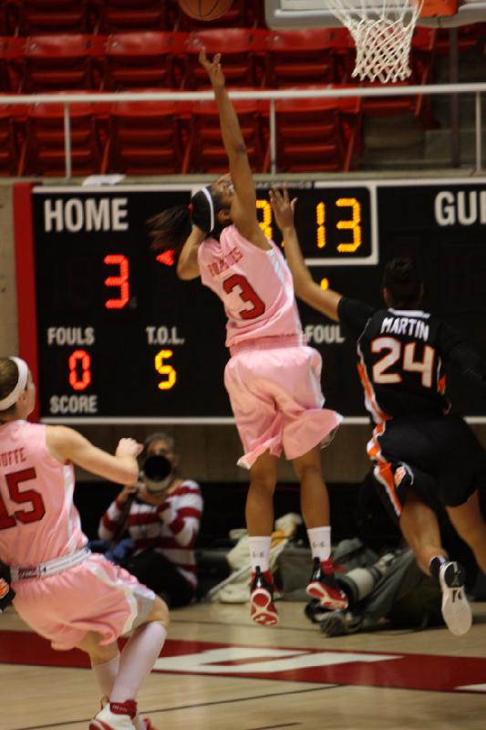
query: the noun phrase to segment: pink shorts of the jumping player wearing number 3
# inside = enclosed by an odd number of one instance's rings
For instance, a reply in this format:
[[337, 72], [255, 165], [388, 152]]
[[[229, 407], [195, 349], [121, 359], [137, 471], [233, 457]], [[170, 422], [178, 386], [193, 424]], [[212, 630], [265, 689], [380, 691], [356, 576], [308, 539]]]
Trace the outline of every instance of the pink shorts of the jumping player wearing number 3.
[[250, 469], [268, 451], [295, 459], [326, 446], [342, 421], [323, 409], [321, 356], [305, 345], [244, 347], [224, 370], [244, 454], [239, 466]]

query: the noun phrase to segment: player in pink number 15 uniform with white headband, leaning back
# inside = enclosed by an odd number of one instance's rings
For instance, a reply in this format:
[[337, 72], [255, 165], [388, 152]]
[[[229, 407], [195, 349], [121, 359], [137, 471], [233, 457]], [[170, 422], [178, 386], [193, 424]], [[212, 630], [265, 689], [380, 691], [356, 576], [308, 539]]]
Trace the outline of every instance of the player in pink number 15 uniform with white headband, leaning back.
[[10, 567], [16, 611], [53, 648], [88, 653], [106, 696], [90, 730], [150, 730], [135, 698], [164, 644], [167, 606], [89, 552], [73, 504], [73, 464], [132, 483], [141, 445], [121, 439], [112, 456], [72, 429], [26, 422], [35, 399], [26, 362], [0, 358], [0, 559]]

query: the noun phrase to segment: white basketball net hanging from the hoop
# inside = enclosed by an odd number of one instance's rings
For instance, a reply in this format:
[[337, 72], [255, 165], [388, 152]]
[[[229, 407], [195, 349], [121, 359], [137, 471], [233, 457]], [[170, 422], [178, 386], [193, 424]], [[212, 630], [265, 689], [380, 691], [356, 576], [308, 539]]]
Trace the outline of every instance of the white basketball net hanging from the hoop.
[[357, 48], [352, 76], [387, 84], [411, 74], [410, 46], [423, 0], [327, 0]]

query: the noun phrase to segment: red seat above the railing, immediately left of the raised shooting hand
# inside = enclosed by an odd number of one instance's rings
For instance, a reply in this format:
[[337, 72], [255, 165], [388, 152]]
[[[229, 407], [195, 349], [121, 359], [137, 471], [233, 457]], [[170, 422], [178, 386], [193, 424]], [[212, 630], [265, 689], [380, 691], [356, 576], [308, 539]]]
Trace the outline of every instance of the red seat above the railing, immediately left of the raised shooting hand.
[[105, 89], [181, 86], [178, 58], [185, 53], [186, 34], [146, 31], [109, 36], [105, 49]]

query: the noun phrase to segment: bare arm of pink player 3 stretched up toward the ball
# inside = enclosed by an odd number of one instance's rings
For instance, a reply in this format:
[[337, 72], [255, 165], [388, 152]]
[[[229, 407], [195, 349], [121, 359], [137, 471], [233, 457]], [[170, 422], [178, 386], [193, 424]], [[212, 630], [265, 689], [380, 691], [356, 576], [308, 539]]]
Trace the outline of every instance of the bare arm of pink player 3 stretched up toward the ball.
[[232, 203], [232, 220], [245, 238], [260, 248], [269, 248], [264, 233], [256, 217], [256, 193], [253, 184], [253, 175], [248, 162], [246, 146], [244, 144], [240, 122], [233, 108], [233, 103], [226, 90], [224, 75], [221, 67], [221, 54], [216, 54], [210, 61], [202, 49], [199, 56], [200, 63], [206, 69], [212, 83], [216, 106], [220, 115], [222, 143], [228, 155], [230, 174], [234, 187]]

